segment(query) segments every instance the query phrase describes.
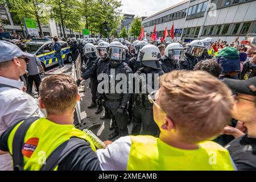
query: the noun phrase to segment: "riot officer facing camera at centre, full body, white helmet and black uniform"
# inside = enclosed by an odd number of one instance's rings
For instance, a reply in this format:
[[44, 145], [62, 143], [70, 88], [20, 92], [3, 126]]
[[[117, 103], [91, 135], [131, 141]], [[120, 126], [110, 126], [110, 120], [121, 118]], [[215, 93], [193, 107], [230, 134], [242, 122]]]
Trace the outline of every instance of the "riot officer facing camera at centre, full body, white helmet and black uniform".
[[[126, 110], [127, 102], [130, 100], [131, 94], [129, 93], [129, 74], [132, 74], [131, 68], [129, 65], [123, 62], [125, 60], [126, 50], [123, 45], [119, 42], [112, 42], [109, 44], [107, 48], [108, 57], [110, 63], [106, 65], [103, 73], [108, 75], [107, 86], [108, 89], [104, 90], [102, 93], [102, 97], [104, 97], [106, 101], [106, 107], [108, 107], [110, 115], [114, 118], [116, 123], [114, 133], [109, 135], [109, 139], [113, 139], [117, 137], [119, 134], [120, 137], [128, 135], [127, 123], [128, 123], [128, 115]], [[124, 74], [127, 78], [127, 85], [125, 88], [118, 88], [124, 90], [122, 92], [117, 92], [117, 84], [119, 83], [115, 80], [115, 77], [121, 73]], [[112, 81], [114, 84], [112, 84]], [[102, 81], [101, 83], [104, 83]], [[119, 85], [119, 84], [118, 84]], [[99, 87], [102, 85], [100, 84]], [[104, 85], [105, 86], [105, 85]], [[114, 91], [114, 92], [113, 92]]]

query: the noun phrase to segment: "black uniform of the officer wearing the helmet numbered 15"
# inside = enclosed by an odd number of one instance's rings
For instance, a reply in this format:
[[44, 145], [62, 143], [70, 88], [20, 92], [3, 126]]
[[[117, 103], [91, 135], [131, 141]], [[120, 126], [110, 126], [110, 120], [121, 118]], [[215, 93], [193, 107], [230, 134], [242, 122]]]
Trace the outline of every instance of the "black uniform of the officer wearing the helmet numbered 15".
[[[154, 74], [158, 73], [159, 76], [163, 75], [164, 72], [162, 69], [153, 69], [148, 67], [139, 68], [136, 72], [138, 75], [141, 75], [144, 73], [147, 75], [149, 73], [152, 75], [152, 89], [154, 89], [154, 81], [158, 80], [158, 78], [154, 78]], [[149, 84], [148, 80], [146, 81], [146, 85], [142, 85], [141, 79], [140, 80], [140, 92], [142, 91], [142, 86], [147, 86]], [[131, 131], [132, 135], [138, 135], [141, 131], [141, 125], [143, 125], [143, 132], [144, 135], [152, 135], [155, 137], [158, 137], [159, 135], [159, 128], [154, 122], [153, 117], [153, 109], [152, 104], [148, 100], [148, 94], [145, 93], [134, 93], [133, 94], [133, 130]]]

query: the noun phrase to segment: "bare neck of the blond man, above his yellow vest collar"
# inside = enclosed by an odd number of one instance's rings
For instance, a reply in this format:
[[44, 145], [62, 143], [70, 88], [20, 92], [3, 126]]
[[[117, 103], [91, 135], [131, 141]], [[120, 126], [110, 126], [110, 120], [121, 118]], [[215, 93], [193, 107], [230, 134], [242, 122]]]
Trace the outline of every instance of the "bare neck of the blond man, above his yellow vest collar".
[[179, 139], [176, 139], [174, 136], [164, 136], [160, 134], [159, 139], [172, 147], [180, 148], [183, 150], [196, 150], [199, 148], [198, 144], [184, 143], [181, 142]]

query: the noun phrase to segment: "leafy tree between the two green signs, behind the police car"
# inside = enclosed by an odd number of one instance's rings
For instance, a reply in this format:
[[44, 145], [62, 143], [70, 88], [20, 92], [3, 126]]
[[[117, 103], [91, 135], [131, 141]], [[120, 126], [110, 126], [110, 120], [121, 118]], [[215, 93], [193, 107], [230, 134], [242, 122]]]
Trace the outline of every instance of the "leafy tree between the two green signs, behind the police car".
[[75, 23], [81, 22], [78, 0], [48, 0], [47, 5], [51, 9], [51, 17], [60, 22], [64, 37], [64, 25], [75, 26]]

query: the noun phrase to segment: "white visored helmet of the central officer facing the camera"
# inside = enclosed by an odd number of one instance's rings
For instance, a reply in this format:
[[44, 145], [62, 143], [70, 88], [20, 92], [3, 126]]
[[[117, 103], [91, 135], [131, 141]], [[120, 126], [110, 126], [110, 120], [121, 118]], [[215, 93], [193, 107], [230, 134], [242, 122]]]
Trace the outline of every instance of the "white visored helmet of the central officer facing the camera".
[[109, 44], [109, 47], [106, 49], [108, 52], [108, 57], [113, 61], [123, 61], [126, 57], [126, 50], [123, 47], [123, 44], [117, 41], [114, 41]]

